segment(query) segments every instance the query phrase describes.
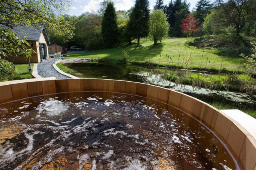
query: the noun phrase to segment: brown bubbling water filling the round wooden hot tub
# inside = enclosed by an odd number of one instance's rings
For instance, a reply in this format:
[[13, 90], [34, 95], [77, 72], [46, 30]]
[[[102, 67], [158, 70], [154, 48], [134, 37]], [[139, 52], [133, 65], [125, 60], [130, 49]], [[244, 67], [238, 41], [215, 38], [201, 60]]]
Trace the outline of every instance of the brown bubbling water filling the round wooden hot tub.
[[0, 169], [236, 169], [215, 135], [128, 94], [65, 93], [0, 105]]

